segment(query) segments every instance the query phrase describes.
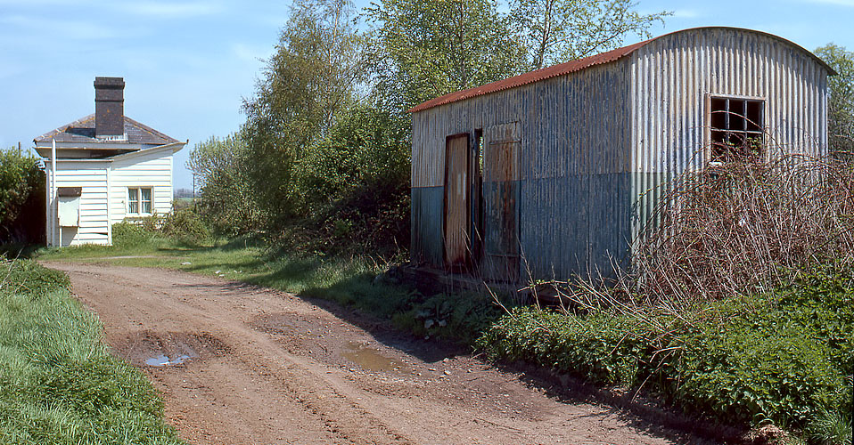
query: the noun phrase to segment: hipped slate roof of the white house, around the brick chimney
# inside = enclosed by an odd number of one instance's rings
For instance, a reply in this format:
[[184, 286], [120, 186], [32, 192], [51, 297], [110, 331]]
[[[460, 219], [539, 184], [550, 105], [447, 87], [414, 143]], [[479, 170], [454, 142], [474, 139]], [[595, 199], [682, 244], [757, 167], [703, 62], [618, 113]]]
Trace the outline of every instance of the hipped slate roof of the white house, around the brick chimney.
[[61, 127], [38, 136], [33, 142], [79, 142], [84, 144], [95, 143], [116, 143], [122, 142], [127, 144], [156, 144], [163, 145], [167, 143], [178, 142], [177, 139], [162, 134], [148, 125], [140, 124], [134, 119], [125, 116], [125, 134], [127, 140], [111, 141], [107, 139], [99, 139], [94, 135], [94, 113], [86, 117], [81, 117], [70, 124], [62, 125]]

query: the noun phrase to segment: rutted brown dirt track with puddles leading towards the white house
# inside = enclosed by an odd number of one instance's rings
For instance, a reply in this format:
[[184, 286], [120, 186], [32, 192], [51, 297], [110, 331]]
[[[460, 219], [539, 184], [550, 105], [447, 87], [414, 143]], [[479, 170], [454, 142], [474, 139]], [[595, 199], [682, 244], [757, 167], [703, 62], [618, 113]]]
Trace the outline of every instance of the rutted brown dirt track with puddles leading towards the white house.
[[178, 271], [45, 265], [69, 272], [114, 352], [144, 369], [168, 421], [196, 444], [692, 441], [283, 292]]

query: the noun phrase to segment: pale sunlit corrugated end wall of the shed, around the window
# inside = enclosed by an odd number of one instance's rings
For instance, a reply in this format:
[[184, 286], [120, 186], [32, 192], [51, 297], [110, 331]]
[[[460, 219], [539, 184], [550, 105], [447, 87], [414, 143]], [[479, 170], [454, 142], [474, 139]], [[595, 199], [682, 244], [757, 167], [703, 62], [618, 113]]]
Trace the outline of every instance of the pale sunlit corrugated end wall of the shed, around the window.
[[657, 38], [629, 57], [633, 235], [669, 181], [705, 166], [710, 94], [764, 99], [773, 151], [826, 152], [827, 72], [789, 42], [738, 29], [699, 28]]

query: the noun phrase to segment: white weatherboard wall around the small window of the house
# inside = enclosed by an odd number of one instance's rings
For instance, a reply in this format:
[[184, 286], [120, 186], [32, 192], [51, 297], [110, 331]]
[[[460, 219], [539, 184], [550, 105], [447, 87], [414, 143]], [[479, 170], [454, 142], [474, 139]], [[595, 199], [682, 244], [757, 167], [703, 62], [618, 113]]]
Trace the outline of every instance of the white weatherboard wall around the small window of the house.
[[127, 214], [127, 189], [152, 188], [152, 209], [157, 214], [172, 211], [172, 148], [152, 149], [115, 158], [111, 171], [111, 221], [119, 223]]

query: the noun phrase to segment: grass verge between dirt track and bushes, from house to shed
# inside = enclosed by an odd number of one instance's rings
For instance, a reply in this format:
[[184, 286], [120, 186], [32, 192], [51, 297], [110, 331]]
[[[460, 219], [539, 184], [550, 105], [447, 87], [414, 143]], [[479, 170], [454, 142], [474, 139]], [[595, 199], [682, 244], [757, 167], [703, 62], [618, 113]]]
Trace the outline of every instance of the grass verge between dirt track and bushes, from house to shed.
[[234, 279], [333, 301], [389, 320], [416, 336], [440, 336], [465, 345], [473, 344], [503, 314], [486, 295], [421, 295], [394, 279], [376, 280], [385, 267], [367, 256], [294, 254], [252, 239], [189, 246], [158, 232], [127, 227], [116, 231], [117, 226], [113, 226], [115, 246], [46, 248], [37, 252], [37, 258], [160, 267]]

